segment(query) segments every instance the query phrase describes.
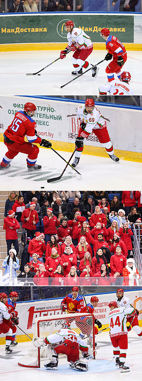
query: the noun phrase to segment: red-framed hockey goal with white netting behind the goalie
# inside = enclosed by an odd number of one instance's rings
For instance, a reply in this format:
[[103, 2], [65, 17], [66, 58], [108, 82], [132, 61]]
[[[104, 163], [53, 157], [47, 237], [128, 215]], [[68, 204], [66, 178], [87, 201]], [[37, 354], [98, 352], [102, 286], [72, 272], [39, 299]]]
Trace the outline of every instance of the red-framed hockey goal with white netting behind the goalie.
[[76, 331], [82, 339], [85, 339], [92, 355], [95, 358], [95, 327], [94, 315], [92, 314], [63, 314], [44, 316], [35, 319], [35, 330], [30, 349], [27, 355], [19, 360], [22, 367], [40, 368], [40, 360], [46, 359], [47, 347], [36, 348], [34, 339], [38, 336], [45, 338], [61, 328], [63, 320], [69, 321], [71, 329]]

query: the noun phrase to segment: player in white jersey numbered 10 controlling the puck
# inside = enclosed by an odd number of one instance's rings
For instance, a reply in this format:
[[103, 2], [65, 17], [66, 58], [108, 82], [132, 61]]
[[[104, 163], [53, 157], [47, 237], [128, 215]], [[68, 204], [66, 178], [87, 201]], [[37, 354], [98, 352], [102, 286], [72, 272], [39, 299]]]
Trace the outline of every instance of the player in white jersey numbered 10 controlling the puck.
[[[93, 42], [92, 39], [80, 28], [75, 28], [73, 21], [69, 20], [65, 24], [65, 30], [68, 31], [67, 39], [68, 46], [65, 50], [61, 50], [60, 58], [63, 59], [66, 57], [66, 53], [69, 50], [74, 51], [71, 62], [73, 64], [75, 71], [72, 75], [82, 74], [82, 67], [84, 69], [90, 69], [93, 64], [89, 64], [88, 61], [85, 61], [86, 58], [93, 51]], [[92, 77], [96, 77], [99, 68], [97, 66], [92, 69]]]

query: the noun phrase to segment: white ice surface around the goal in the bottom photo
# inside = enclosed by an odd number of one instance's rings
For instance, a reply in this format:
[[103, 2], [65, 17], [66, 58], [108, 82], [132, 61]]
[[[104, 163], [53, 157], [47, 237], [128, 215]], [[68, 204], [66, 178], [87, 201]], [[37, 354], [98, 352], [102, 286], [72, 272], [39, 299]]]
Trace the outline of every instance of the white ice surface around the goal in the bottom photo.
[[[42, 378], [42, 381], [47, 381], [50, 377], [51, 381], [61, 381], [63, 378], [67, 381], [72, 381], [74, 377], [76, 377], [78, 381], [85, 381], [86, 379], [94, 381], [94, 377], [97, 375], [99, 381], [104, 381], [104, 378], [106, 381], [109, 381], [110, 378], [116, 380], [123, 378], [123, 380], [129, 379], [129, 381], [137, 379], [137, 381], [141, 381], [142, 340], [137, 337], [133, 330], [128, 333], [128, 351], [126, 356], [126, 366], [129, 366], [130, 372], [123, 373], [123, 375], [121, 375], [120, 371], [115, 367], [115, 360], [112, 360], [113, 349], [109, 338], [109, 332], [102, 332], [100, 335], [97, 335], [96, 341], [97, 346], [99, 346], [100, 349], [97, 350], [96, 360], [90, 359], [88, 361], [87, 373], [69, 369], [69, 363], [67, 363], [66, 357], [59, 359], [58, 369], [53, 371], [46, 370], [43, 365], [44, 361], [41, 361], [41, 368], [20, 367], [18, 361], [21, 359], [22, 355], [27, 354], [30, 342], [19, 343], [16, 348], [14, 347], [13, 353], [7, 355], [5, 355], [5, 345], [1, 345], [0, 379], [1, 381], [6, 381], [7, 379], [10, 381], [15, 381], [15, 379], [20, 379], [21, 381], [25, 381], [25, 379], [36, 381]], [[110, 362], [111, 360], [112, 362]]]

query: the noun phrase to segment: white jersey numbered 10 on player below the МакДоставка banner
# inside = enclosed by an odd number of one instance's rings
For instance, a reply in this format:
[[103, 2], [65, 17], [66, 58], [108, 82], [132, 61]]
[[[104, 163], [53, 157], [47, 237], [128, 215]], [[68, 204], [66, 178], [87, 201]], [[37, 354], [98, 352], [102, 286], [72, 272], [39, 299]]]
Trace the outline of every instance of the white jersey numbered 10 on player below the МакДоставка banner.
[[73, 28], [67, 34], [68, 45], [75, 44], [79, 49], [87, 49], [93, 46], [92, 39], [80, 28]]

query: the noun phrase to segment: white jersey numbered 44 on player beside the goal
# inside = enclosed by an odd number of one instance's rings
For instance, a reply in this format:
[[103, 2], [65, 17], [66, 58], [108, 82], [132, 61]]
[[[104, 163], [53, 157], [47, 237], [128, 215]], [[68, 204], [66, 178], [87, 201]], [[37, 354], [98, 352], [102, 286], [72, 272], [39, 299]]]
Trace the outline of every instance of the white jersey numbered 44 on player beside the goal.
[[131, 315], [133, 312], [135, 312], [134, 307], [119, 307], [109, 312], [110, 337], [128, 332], [126, 327], [127, 315]]

